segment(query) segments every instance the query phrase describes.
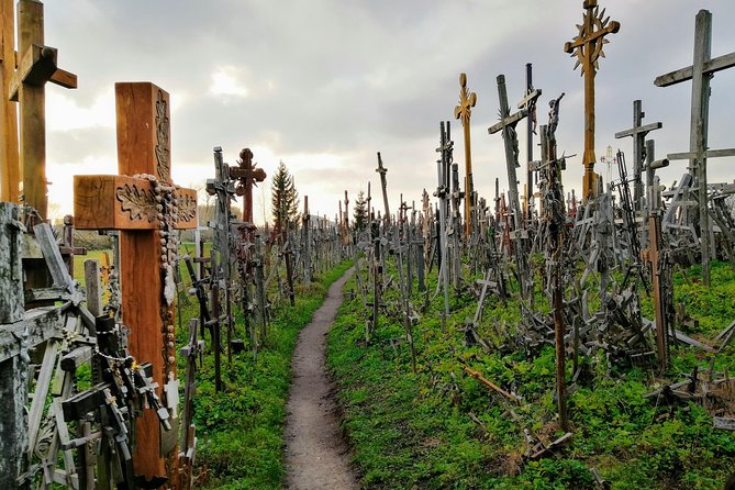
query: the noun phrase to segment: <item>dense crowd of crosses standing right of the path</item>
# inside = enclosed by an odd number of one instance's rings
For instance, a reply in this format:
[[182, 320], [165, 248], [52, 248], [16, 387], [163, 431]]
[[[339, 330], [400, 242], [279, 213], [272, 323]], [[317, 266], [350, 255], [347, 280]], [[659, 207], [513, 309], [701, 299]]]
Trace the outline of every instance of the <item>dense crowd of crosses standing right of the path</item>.
[[[605, 36], [619, 31], [597, 1], [584, 1], [579, 35], [565, 51], [577, 58], [584, 77], [584, 149], [582, 197], [565, 193], [561, 170], [573, 157], [557, 152], [556, 130], [564, 93], [548, 103], [548, 122], [537, 126], [536, 105], [542, 96], [532, 83], [526, 66], [524, 97], [512, 112], [504, 75], [499, 75], [500, 121], [488, 129], [503, 138], [508, 191], [490, 199], [474, 187], [470, 147], [471, 108], [477, 94], [467, 89], [467, 76], [459, 77], [459, 103], [454, 115], [464, 129], [465, 179], [454, 160], [450, 122], [439, 123], [436, 152], [436, 202], [424, 190], [421, 209], [401, 200], [391, 214], [387, 193], [387, 172], [378, 153], [376, 172], [380, 176], [383, 211], [370, 207], [368, 182], [368, 225], [355, 230], [357, 291], [365, 312], [365, 339], [370, 342], [381, 318], [404, 325], [392, 348], [407, 345], [414, 364], [413, 332], [420, 328], [421, 314], [428, 314], [431, 299], [442, 297], [438, 313], [445, 332], [460, 328], [465, 343], [482, 349], [524, 350], [530, 355], [543, 345], [557, 353], [559, 413], [566, 426], [565, 363], [571, 359], [572, 380], [583, 378], [586, 358], [603, 352], [608, 366], [635, 365], [665, 370], [669, 346], [678, 342], [694, 348], [713, 347], [682, 332], [677, 320], [671, 278], [676, 267], [701, 263], [703, 282], [710, 282], [710, 259], [728, 260], [735, 267], [735, 220], [727, 197], [734, 183], [706, 180], [706, 158], [735, 155], [733, 149], [708, 149], [706, 114], [712, 75], [735, 65], [735, 53], [710, 57], [711, 14], [697, 15], [694, 63], [692, 66], [656, 78], [655, 85], [692, 81], [691, 147], [688, 153], [668, 154], [656, 159], [648, 133], [662, 127], [660, 122], [643, 124], [642, 102], [633, 103], [633, 127], [615, 134], [632, 137], [632, 171], [623, 152], [609, 155], [616, 163], [617, 177], [610, 182], [594, 172], [594, 77], [603, 56]], [[527, 122], [527, 185], [523, 199], [519, 191], [519, 136], [516, 126]], [[534, 160], [534, 135], [541, 155]], [[690, 166], [679, 183], [667, 190], [656, 170], [671, 162], [689, 159]], [[706, 189], [700, 192], [699, 189]], [[388, 274], [386, 259], [396, 258], [396, 272]], [[361, 257], [365, 257], [363, 260]], [[436, 267], [437, 286], [430, 290], [427, 277]], [[392, 268], [390, 270], [393, 270]], [[415, 289], [414, 289], [415, 285]], [[452, 318], [450, 296], [474, 293], [477, 299], [471, 319]], [[650, 296], [654, 318], [642, 313], [642, 294]], [[486, 303], [517, 299], [520, 324], [482, 321]], [[732, 328], [731, 328], [732, 330]], [[730, 331], [727, 331], [730, 332]], [[719, 348], [732, 339], [723, 332]]]

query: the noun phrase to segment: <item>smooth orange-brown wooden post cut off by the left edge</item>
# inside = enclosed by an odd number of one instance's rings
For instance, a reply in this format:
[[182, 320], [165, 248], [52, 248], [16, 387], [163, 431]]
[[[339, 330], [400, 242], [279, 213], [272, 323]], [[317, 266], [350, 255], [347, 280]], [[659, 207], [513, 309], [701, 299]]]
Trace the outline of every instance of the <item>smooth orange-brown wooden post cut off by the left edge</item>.
[[15, 70], [14, 38], [13, 0], [0, 0], [0, 201], [7, 202], [18, 202], [22, 180], [18, 155], [18, 107], [4, 97]]

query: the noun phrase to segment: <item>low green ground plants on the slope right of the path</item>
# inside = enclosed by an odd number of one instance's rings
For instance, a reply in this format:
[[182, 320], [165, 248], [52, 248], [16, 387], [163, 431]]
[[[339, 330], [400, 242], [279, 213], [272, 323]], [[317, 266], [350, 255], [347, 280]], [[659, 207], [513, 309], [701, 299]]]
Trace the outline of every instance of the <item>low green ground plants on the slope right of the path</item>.
[[[675, 302], [699, 320], [688, 333], [704, 342], [735, 320], [735, 274], [727, 264], [715, 263], [712, 277], [708, 289], [699, 280], [699, 268], [675, 274]], [[354, 279], [350, 287], [356, 288]], [[393, 300], [386, 298], [389, 304]], [[396, 311], [381, 319], [368, 344], [356, 294], [342, 305], [330, 333], [327, 364], [364, 488], [599, 488], [594, 470], [613, 489], [719, 489], [733, 472], [735, 435], [712, 427], [708, 409], [715, 407], [645, 396], [684, 379], [694, 367], [713, 366], [715, 378], [726, 376], [734, 366], [734, 345], [717, 356], [672, 347], [672, 366], [665, 377], [652, 369], [609, 365], [598, 352], [586, 360], [587, 379], [569, 394], [571, 441], [533, 459], [524, 457], [533, 439], [548, 444], [564, 434], [554, 400], [553, 347], [533, 355], [502, 348], [503, 335], [512, 334], [519, 320], [519, 304], [504, 305], [495, 297], [486, 305], [478, 333], [494, 339], [498, 348], [486, 354], [465, 347], [461, 327], [474, 315], [476, 300], [469, 294], [453, 299], [445, 334], [439, 303], [441, 297], [431, 302], [413, 331], [416, 375]], [[645, 297], [643, 310], [653, 318]], [[487, 389], [464, 366], [522, 401]], [[720, 414], [734, 414], [732, 385], [717, 396], [725, 401], [716, 407]]]

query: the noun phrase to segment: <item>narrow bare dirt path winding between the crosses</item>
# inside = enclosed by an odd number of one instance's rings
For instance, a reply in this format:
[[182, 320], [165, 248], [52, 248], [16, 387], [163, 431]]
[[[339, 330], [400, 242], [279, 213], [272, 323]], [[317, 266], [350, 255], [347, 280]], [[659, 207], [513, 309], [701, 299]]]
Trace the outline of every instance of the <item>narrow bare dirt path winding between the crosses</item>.
[[349, 453], [338, 431], [333, 387], [326, 376], [326, 332], [342, 304], [349, 269], [336, 280], [299, 335], [291, 369], [293, 382], [286, 405], [286, 468], [290, 490], [356, 489]]

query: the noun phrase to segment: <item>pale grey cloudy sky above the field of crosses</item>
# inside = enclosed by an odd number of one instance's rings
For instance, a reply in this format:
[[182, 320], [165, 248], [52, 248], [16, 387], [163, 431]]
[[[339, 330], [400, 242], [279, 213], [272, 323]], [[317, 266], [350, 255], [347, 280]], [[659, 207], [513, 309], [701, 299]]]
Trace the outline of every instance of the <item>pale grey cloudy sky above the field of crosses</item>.
[[[656, 88], [656, 76], [691, 65], [694, 15], [713, 13], [712, 55], [735, 51], [732, 0], [603, 1], [622, 24], [610, 36], [597, 77], [597, 152], [620, 147], [632, 162], [632, 140], [614, 133], [632, 125], [642, 99], [644, 124], [657, 156], [689, 149], [691, 86]], [[464, 142], [453, 111], [458, 76], [477, 92], [472, 110], [476, 187], [492, 198], [494, 179], [508, 187], [502, 137], [487, 129], [498, 119], [495, 77], [504, 74], [515, 107], [525, 89], [525, 64], [547, 103], [566, 92], [557, 131], [559, 151], [582, 152], [582, 79], [564, 53], [577, 34], [581, 0], [64, 0], [47, 1], [46, 44], [59, 66], [79, 77], [77, 90], [47, 88], [48, 179], [52, 201], [71, 211], [71, 175], [114, 174], [114, 82], [153, 81], [171, 98], [171, 160], [182, 186], [213, 176], [212, 147], [234, 164], [250, 147], [269, 176], [279, 160], [293, 174], [312, 213], [334, 216], [337, 201], [371, 182], [381, 208], [376, 152], [388, 167], [392, 209], [436, 188], [438, 125], [453, 121], [455, 162]], [[710, 146], [735, 146], [735, 69], [712, 81]], [[525, 125], [519, 126], [525, 141]], [[521, 160], [525, 162], [522, 143]], [[537, 156], [537, 153], [536, 153]], [[710, 162], [711, 181], [732, 181], [732, 159]], [[599, 164], [603, 177], [606, 167]], [[687, 163], [660, 172], [680, 178]], [[522, 172], [519, 174], [523, 176]], [[581, 187], [579, 158], [565, 172]], [[521, 177], [522, 180], [525, 180]], [[265, 194], [256, 196], [263, 216]], [[350, 204], [352, 208], [352, 204]], [[269, 205], [266, 204], [266, 212]], [[263, 218], [260, 218], [263, 219]]]

